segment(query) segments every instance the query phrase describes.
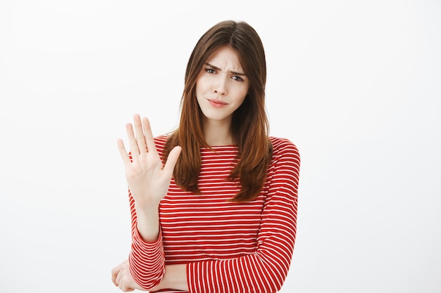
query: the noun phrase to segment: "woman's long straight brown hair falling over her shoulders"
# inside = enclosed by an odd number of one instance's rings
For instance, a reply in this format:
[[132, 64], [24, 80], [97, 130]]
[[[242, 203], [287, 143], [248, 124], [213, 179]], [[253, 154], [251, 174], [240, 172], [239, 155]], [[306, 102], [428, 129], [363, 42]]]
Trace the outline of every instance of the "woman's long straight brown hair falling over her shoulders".
[[238, 156], [229, 178], [241, 185], [232, 200], [247, 202], [261, 192], [272, 155], [265, 108], [265, 52], [259, 35], [247, 22], [219, 22], [205, 32], [194, 46], [185, 71], [180, 124], [168, 137], [163, 160], [175, 145], [180, 145], [182, 151], [173, 172], [175, 183], [184, 190], [200, 193], [197, 185], [201, 169], [200, 148], [209, 145], [202, 131], [203, 114], [197, 103], [196, 80], [206, 61], [222, 46], [229, 46], [237, 53], [250, 84], [244, 102], [232, 115], [230, 129]]

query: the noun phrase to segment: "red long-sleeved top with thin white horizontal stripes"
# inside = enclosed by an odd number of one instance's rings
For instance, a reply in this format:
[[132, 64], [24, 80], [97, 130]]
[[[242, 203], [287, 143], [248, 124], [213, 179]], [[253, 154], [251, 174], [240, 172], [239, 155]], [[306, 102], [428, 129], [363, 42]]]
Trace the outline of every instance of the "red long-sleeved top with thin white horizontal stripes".
[[[161, 155], [166, 137], [155, 138]], [[137, 232], [132, 196], [130, 271], [149, 289], [166, 264], [187, 263], [190, 292], [277, 292], [285, 281], [296, 235], [300, 158], [296, 146], [271, 137], [273, 157], [261, 194], [251, 202], [230, 202], [240, 186], [226, 178], [237, 147], [201, 149], [201, 195], [173, 181], [159, 207], [161, 231], [154, 243]], [[180, 292], [163, 290], [162, 292]]]

